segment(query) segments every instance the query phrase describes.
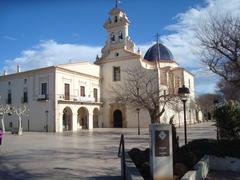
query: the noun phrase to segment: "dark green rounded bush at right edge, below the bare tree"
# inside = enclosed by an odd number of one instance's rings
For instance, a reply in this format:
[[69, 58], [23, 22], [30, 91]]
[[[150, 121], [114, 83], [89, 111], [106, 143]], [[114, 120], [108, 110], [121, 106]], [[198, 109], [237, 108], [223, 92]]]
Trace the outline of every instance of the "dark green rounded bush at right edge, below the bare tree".
[[226, 102], [214, 111], [219, 136], [222, 139], [240, 139], [240, 106]]

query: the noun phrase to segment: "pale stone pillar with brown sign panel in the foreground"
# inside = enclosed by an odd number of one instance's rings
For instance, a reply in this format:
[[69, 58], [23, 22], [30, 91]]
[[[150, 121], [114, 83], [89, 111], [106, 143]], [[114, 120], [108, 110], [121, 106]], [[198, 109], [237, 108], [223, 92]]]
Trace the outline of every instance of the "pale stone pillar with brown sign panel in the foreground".
[[173, 179], [172, 126], [151, 124], [150, 169], [153, 180]]

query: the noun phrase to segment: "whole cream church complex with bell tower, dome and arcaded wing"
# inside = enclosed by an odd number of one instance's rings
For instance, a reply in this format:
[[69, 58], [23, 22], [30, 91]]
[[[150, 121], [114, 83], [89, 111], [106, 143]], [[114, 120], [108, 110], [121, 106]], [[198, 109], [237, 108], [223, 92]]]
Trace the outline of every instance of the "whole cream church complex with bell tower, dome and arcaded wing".
[[[161, 43], [150, 47], [145, 56], [136, 50], [128, 34], [125, 12], [113, 8], [104, 23], [108, 36], [101, 57], [95, 63], [78, 62], [50, 66], [0, 76], [0, 102], [30, 108], [23, 118], [25, 131], [80, 131], [100, 127], [137, 127], [136, 110], [110, 97], [111, 88], [124, 82], [124, 69], [131, 67], [161, 72], [160, 86], [176, 92], [185, 84], [194, 102], [194, 76], [179, 67], [170, 50]], [[158, 66], [156, 65], [158, 64]], [[182, 111], [167, 109], [164, 121], [172, 114], [182, 124]], [[201, 120], [194, 108], [187, 112], [189, 123]], [[148, 127], [150, 117], [140, 111], [141, 127]], [[6, 129], [18, 127], [15, 115], [5, 119]]]

